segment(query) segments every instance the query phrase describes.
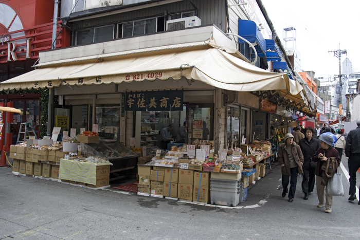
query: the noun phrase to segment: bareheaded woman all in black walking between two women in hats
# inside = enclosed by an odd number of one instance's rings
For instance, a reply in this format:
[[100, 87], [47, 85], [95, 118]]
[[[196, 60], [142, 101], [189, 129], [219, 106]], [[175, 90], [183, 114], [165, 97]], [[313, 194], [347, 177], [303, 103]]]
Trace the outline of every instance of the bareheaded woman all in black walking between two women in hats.
[[304, 156], [304, 163], [302, 164], [302, 182], [301, 188], [304, 193], [304, 200], [309, 199], [309, 195], [314, 191], [315, 186], [315, 169], [316, 166], [311, 164], [311, 157], [320, 147], [319, 140], [313, 136], [314, 128], [311, 126], [305, 127], [305, 138], [299, 141], [299, 146]]

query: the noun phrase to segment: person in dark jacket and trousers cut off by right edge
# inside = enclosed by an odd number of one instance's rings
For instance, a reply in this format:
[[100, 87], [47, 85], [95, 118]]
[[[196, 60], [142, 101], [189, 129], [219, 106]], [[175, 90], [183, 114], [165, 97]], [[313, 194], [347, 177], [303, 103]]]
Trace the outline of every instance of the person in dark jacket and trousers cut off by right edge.
[[[349, 201], [356, 199], [356, 171], [360, 168], [360, 118], [356, 120], [357, 127], [348, 134], [345, 146], [345, 155], [349, 157]], [[360, 205], [360, 200], [358, 201]]]

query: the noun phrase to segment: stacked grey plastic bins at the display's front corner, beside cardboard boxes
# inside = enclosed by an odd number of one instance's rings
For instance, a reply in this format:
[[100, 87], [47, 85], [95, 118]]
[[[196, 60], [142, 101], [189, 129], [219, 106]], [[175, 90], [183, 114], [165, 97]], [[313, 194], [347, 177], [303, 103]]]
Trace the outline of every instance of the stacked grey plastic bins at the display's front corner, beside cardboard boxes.
[[235, 189], [210, 187], [211, 204], [235, 207], [242, 199], [243, 183]]

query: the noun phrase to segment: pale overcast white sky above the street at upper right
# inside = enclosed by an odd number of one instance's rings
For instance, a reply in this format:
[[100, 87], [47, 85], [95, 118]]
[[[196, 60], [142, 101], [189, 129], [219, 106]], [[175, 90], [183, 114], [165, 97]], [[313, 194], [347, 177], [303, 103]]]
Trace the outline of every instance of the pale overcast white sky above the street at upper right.
[[[349, 58], [353, 68], [360, 68], [360, 1], [262, 0], [262, 3], [280, 40], [283, 28], [296, 28], [302, 70], [315, 71], [315, 76], [337, 75], [339, 60], [328, 51], [338, 50], [339, 43], [341, 50], [347, 50], [341, 62]], [[287, 46], [291, 44], [288, 42]]]

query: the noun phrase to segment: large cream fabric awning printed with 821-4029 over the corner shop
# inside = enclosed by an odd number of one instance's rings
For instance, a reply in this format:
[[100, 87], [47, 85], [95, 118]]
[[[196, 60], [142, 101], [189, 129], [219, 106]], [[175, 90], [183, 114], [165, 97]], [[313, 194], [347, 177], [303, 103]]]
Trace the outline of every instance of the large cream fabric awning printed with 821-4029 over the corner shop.
[[[189, 45], [190, 46], [190, 45]], [[215, 45], [213, 41], [197, 46], [146, 51], [100, 54], [38, 64], [37, 69], [2, 82], [0, 90], [57, 87], [60, 85], [120, 84], [132, 81], [181, 79], [236, 91], [282, 89], [297, 96], [303, 89], [284, 73], [274, 73], [251, 65], [237, 51]], [[229, 53], [228, 53], [229, 52]]]

